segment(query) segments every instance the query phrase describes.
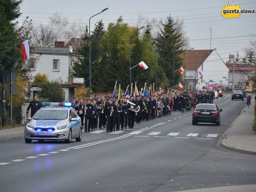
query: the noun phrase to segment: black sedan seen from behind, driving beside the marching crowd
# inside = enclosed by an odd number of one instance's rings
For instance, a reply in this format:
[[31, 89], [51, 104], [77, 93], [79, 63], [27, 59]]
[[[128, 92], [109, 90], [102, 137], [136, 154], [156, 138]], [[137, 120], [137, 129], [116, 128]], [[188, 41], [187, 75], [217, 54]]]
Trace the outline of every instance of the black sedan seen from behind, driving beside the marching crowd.
[[220, 125], [220, 112], [216, 104], [199, 103], [192, 115], [192, 125], [197, 123], [214, 123], [217, 126]]

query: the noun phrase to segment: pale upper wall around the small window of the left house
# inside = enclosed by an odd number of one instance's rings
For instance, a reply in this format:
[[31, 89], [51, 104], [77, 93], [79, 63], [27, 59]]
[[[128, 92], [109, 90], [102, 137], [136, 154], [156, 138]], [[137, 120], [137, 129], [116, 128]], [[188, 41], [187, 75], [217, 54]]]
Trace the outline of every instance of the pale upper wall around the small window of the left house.
[[[54, 59], [59, 59], [57, 71], [53, 70]], [[38, 73], [46, 74], [49, 81], [61, 80], [62, 83], [65, 83], [68, 81], [69, 60], [68, 55], [42, 54], [35, 64], [35, 70], [32, 70], [32, 75], [34, 77]]]

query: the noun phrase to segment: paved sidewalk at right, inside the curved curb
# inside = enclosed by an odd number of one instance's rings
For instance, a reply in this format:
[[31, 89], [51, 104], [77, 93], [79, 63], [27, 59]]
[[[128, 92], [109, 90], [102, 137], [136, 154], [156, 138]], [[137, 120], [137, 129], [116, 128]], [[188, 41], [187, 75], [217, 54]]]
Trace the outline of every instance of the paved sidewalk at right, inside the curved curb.
[[[254, 98], [254, 97], [253, 97]], [[222, 135], [221, 146], [228, 150], [256, 155], [256, 134], [253, 131], [255, 100], [242, 110], [241, 114]]]

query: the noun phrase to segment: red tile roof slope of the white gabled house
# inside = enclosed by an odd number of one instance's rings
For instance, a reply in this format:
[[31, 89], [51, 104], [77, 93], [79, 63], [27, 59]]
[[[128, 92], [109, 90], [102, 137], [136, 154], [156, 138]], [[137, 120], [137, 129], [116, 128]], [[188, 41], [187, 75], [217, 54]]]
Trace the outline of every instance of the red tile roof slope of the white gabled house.
[[186, 50], [185, 70], [198, 69], [213, 50]]

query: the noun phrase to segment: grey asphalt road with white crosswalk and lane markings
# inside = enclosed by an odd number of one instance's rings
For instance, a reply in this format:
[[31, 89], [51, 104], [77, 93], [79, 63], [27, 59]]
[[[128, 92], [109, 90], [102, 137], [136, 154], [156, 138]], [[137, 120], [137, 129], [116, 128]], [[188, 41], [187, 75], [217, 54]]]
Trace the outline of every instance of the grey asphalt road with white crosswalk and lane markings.
[[[0, 192], [173, 192], [256, 184], [256, 156], [224, 150], [220, 136], [246, 101], [216, 100], [221, 125], [192, 125], [192, 112], [82, 142], [0, 142]], [[6, 164], [4, 164], [6, 163]]]

